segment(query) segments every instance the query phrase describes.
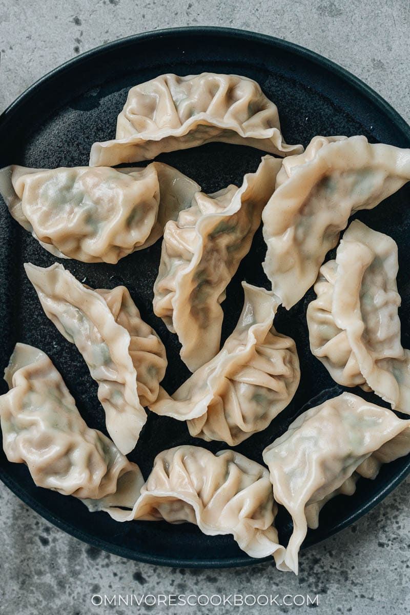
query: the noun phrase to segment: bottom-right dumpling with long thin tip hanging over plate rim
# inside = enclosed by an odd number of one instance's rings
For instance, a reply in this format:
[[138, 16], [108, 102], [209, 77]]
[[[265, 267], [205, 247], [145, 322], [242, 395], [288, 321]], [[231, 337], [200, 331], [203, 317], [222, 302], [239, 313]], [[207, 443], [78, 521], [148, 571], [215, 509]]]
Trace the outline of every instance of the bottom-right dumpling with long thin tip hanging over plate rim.
[[410, 422], [391, 410], [343, 393], [298, 416], [263, 452], [274, 498], [293, 519], [285, 564], [298, 574], [298, 551], [307, 527], [338, 493], [351, 495], [360, 476], [410, 452]]

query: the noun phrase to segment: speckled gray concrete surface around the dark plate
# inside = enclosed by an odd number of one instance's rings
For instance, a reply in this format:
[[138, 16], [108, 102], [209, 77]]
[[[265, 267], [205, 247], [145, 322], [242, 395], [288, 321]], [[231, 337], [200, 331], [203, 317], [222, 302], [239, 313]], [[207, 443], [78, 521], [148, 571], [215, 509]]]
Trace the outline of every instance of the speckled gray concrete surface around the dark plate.
[[[410, 119], [408, 0], [0, 0], [0, 110], [76, 54], [128, 34], [182, 25], [226, 25], [297, 42], [357, 74]], [[270, 564], [190, 571], [130, 562], [66, 536], [0, 485], [0, 614], [307, 612], [306, 604], [195, 609], [91, 602], [94, 594], [111, 600], [194, 592], [278, 595], [278, 601], [318, 594], [321, 615], [402, 615], [410, 612], [409, 485], [304, 552], [298, 578]]]

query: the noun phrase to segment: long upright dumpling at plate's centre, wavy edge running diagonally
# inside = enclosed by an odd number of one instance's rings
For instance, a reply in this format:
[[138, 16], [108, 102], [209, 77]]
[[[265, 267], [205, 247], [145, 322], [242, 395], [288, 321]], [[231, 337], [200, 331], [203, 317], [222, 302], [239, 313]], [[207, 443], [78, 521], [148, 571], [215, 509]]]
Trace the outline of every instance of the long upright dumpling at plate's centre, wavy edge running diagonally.
[[178, 334], [181, 359], [191, 371], [215, 357], [221, 343], [225, 289], [248, 253], [261, 212], [274, 190], [281, 161], [265, 156], [240, 188], [208, 196], [165, 226], [154, 312]]

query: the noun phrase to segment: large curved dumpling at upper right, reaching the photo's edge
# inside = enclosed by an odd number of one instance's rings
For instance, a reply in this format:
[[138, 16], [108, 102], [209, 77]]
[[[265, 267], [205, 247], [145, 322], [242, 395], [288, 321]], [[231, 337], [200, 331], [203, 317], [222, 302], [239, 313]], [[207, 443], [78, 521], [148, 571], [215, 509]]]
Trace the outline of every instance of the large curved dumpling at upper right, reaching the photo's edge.
[[262, 213], [264, 270], [285, 308], [304, 296], [349, 216], [372, 209], [410, 180], [410, 149], [366, 137], [314, 137], [283, 161]]

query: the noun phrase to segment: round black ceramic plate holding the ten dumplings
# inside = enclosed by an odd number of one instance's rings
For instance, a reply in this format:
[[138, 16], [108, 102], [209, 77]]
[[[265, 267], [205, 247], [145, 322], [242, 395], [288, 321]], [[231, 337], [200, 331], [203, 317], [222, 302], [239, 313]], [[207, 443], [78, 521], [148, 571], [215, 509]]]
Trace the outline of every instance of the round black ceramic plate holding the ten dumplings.
[[[179, 75], [202, 71], [242, 74], [261, 84], [280, 112], [287, 143], [309, 143], [314, 135], [364, 134], [371, 141], [410, 146], [410, 128], [400, 116], [365, 84], [351, 74], [306, 49], [274, 38], [218, 28], [187, 28], [141, 34], [99, 47], [66, 63], [33, 85], [0, 117], [0, 166], [29, 167], [86, 165], [93, 141], [114, 138], [116, 117], [127, 90], [162, 73]], [[206, 192], [229, 183], [240, 184], [244, 173], [256, 170], [261, 152], [242, 146], [213, 143], [159, 157], [190, 177]], [[403, 345], [410, 347], [409, 251], [410, 190], [404, 186], [371, 212], [358, 217], [372, 228], [391, 235], [399, 246], [403, 264], [398, 288], [403, 298], [401, 320]], [[0, 226], [0, 368], [6, 366], [17, 341], [47, 352], [61, 371], [77, 400], [79, 410], [92, 427], [104, 430], [97, 387], [76, 347], [69, 344], [47, 320], [37, 296], [25, 278], [23, 262], [49, 266], [55, 258], [23, 231], [1, 204]], [[231, 333], [242, 305], [241, 280], [267, 287], [262, 272], [264, 243], [256, 234], [251, 252], [227, 289], [223, 339]], [[189, 372], [179, 359], [174, 335], [152, 313], [152, 285], [160, 257], [156, 245], [123, 258], [117, 265], [64, 265], [93, 287], [125, 284], [141, 309], [143, 318], [159, 332], [167, 347], [165, 388], [173, 392]], [[302, 378], [290, 406], [261, 434], [238, 446], [241, 453], [261, 462], [262, 450], [282, 434], [290, 421], [307, 407], [341, 391], [325, 368], [309, 352], [306, 306], [312, 291], [293, 309], [280, 309], [275, 325], [298, 346]], [[1, 384], [5, 392], [5, 383]], [[362, 392], [359, 394], [364, 395]], [[368, 397], [368, 399], [372, 399]], [[379, 398], [373, 399], [380, 402]], [[130, 455], [144, 476], [154, 457], [164, 448], [183, 443], [206, 446], [212, 451], [224, 443], [204, 443], [189, 437], [184, 423], [149, 413], [136, 450]], [[385, 466], [374, 481], [361, 479], [350, 498], [339, 496], [326, 505], [320, 527], [310, 531], [305, 546], [320, 541], [349, 525], [393, 489], [408, 474], [409, 459]], [[34, 486], [22, 464], [0, 456], [0, 478], [23, 501], [66, 532], [101, 549], [140, 561], [168, 566], [239, 566], [254, 563], [231, 536], [203, 536], [194, 525], [166, 523], [116, 523], [104, 513], [90, 514], [81, 502]], [[277, 518], [280, 538], [287, 541], [290, 518], [283, 510]]]

